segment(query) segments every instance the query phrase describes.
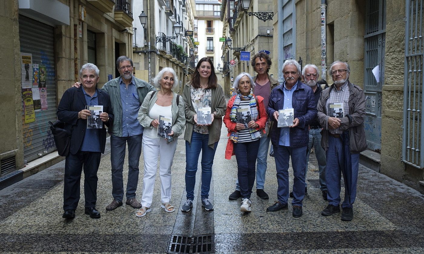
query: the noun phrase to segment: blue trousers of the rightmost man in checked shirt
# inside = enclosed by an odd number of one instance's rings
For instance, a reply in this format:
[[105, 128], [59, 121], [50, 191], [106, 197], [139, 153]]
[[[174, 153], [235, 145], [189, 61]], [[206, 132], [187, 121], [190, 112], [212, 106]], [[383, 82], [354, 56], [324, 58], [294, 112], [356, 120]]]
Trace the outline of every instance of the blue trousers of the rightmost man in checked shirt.
[[[326, 151], [327, 157], [327, 168], [325, 172], [325, 178], [327, 180], [328, 194], [327, 199], [328, 203], [334, 206], [340, 204], [340, 179], [343, 168], [343, 143], [341, 138], [335, 138], [332, 135], [328, 136], [328, 150]], [[345, 191], [344, 201], [342, 207], [352, 207], [352, 204], [356, 199], [356, 184], [358, 181], [358, 168], [359, 168], [359, 153], [351, 154], [351, 164], [352, 164], [352, 186], [351, 186], [351, 196], [349, 202], [349, 196], [347, 191]], [[343, 177], [346, 177], [343, 174]]]

